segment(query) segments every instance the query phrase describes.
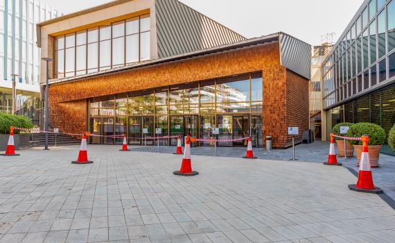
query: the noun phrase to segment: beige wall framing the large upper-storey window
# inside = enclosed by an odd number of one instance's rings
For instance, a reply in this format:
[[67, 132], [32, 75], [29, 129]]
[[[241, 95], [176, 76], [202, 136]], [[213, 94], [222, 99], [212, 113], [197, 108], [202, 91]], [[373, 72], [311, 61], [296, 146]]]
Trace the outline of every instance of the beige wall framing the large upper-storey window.
[[[156, 21], [155, 21], [155, 0], [130, 0], [125, 3], [120, 3], [116, 6], [110, 6], [109, 8], [104, 8], [96, 10], [93, 12], [87, 12], [82, 15], [75, 17], [70, 17], [67, 19], [62, 19], [58, 22], [53, 22], [51, 24], [45, 24], [41, 26], [41, 56], [42, 57], [53, 57], [52, 47], [51, 47], [51, 34], [58, 33], [60, 31], [67, 31], [73, 28], [78, 28], [79, 26], [85, 26], [87, 24], [92, 24], [95, 22], [101, 22], [106, 19], [112, 19], [114, 17], [119, 17], [122, 15], [129, 15], [132, 12], [137, 12], [141, 10], [150, 9], [150, 24], [151, 24], [151, 59], [157, 58], [157, 31], [156, 31]], [[50, 62], [50, 65], [53, 64]], [[50, 66], [50, 69], [51, 69]], [[46, 78], [46, 65], [42, 61], [40, 67], [41, 83], [45, 83]], [[50, 72], [51, 78], [51, 72]]]

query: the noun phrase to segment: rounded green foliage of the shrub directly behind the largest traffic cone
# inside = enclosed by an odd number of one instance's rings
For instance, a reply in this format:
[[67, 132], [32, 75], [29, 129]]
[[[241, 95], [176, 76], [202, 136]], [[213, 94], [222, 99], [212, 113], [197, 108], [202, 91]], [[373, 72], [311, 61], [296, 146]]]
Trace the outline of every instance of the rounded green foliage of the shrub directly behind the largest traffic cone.
[[[369, 135], [370, 140], [368, 145], [383, 145], [385, 144], [385, 131], [381, 126], [369, 122], [360, 122], [350, 126], [347, 131], [347, 137], [361, 137], [362, 135]], [[362, 141], [349, 140], [350, 144], [362, 145]]]

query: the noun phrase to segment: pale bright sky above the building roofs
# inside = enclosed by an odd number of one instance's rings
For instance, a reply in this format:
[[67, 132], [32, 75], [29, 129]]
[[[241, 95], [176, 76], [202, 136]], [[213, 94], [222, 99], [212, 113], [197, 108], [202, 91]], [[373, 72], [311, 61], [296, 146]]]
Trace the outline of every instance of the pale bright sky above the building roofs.
[[[109, 0], [44, 0], [63, 13]], [[322, 43], [322, 35], [337, 40], [363, 0], [180, 0], [245, 37], [283, 31], [309, 44]]]

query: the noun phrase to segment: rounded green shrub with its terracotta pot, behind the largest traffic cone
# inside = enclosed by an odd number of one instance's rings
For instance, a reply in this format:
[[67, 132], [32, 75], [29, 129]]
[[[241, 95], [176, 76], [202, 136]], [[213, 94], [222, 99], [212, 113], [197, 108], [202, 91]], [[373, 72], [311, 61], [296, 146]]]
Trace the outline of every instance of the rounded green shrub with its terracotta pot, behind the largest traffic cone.
[[[362, 135], [369, 135], [370, 140], [368, 143], [369, 150], [369, 161], [371, 167], [378, 167], [378, 159], [380, 157], [380, 149], [385, 143], [385, 131], [381, 126], [372, 124], [369, 122], [360, 122], [353, 124], [349, 131], [347, 131], [347, 137], [361, 137]], [[362, 141], [350, 140], [350, 144], [353, 144], [354, 149], [357, 153], [357, 165], [359, 166], [361, 153], [362, 153]]]

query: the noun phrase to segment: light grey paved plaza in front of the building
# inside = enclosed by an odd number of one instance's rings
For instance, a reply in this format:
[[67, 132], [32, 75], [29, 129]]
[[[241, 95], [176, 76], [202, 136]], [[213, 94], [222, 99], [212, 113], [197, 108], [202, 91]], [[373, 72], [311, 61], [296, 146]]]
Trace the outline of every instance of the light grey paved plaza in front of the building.
[[256, 153], [267, 160], [198, 156], [193, 148], [200, 174], [183, 177], [173, 175], [182, 156], [119, 149], [89, 145], [91, 165], [71, 164], [78, 146], [0, 158], [0, 242], [395, 239], [395, 210], [376, 194], [349, 190], [356, 176], [345, 167], [273, 160], [263, 149]]

